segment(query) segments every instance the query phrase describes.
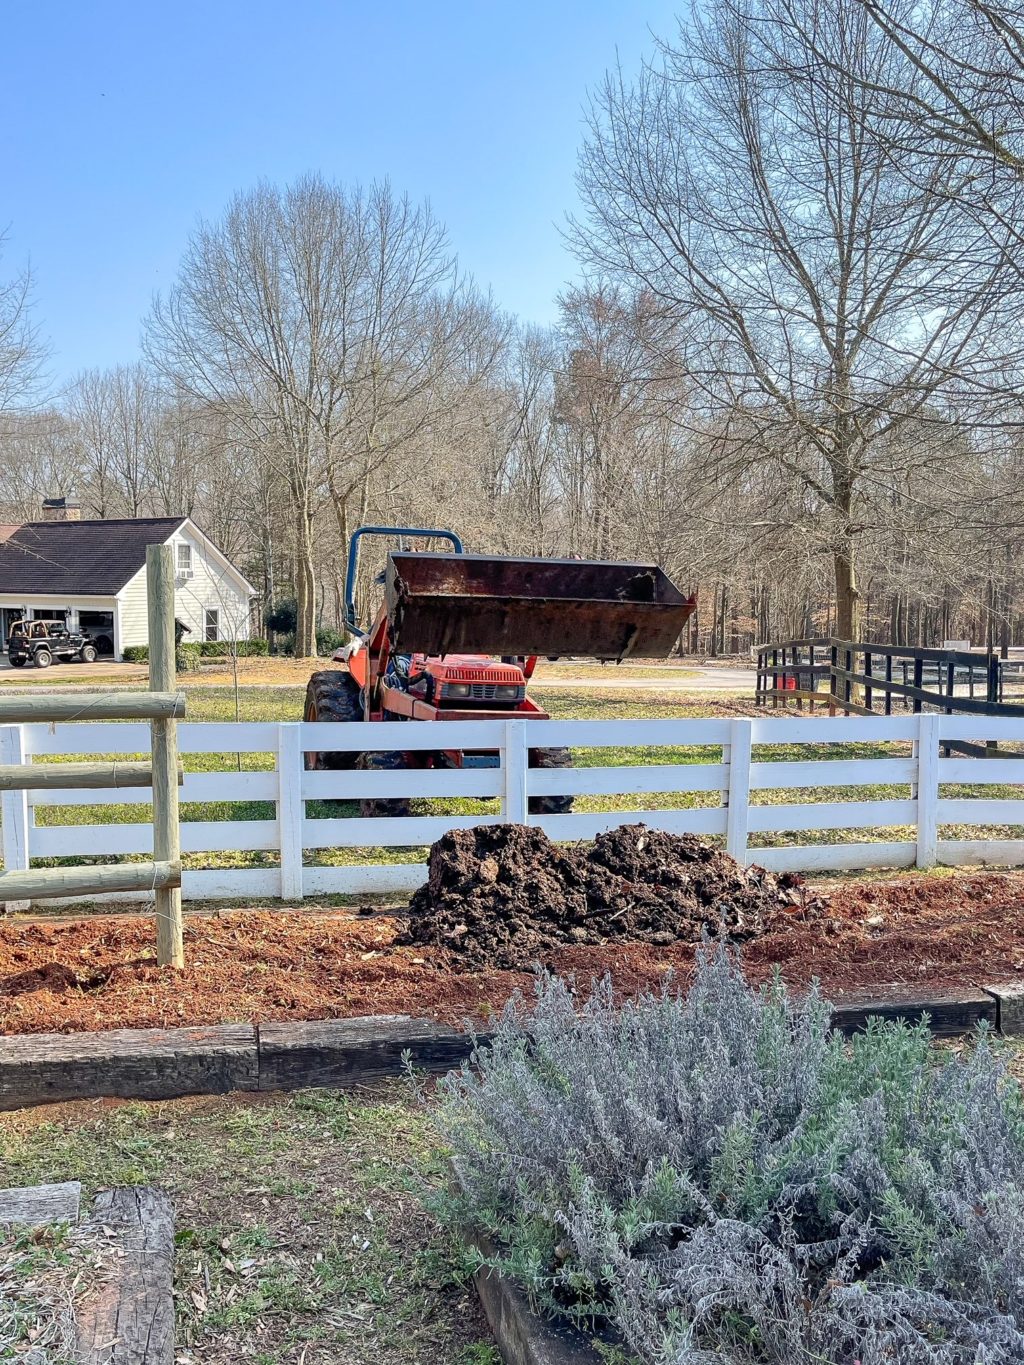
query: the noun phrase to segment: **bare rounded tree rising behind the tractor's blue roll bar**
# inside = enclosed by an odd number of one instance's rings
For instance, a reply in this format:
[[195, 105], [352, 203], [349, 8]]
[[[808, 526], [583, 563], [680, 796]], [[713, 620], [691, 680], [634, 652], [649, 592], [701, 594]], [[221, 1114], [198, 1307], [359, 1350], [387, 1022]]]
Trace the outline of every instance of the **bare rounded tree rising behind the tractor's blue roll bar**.
[[[341, 527], [457, 345], [464, 310], [444, 229], [390, 188], [317, 176], [238, 195], [203, 224], [158, 300], [147, 354], [179, 386], [233, 414], [280, 478], [292, 520], [295, 650], [315, 654], [314, 521]], [[453, 317], [457, 318], [453, 321]]]

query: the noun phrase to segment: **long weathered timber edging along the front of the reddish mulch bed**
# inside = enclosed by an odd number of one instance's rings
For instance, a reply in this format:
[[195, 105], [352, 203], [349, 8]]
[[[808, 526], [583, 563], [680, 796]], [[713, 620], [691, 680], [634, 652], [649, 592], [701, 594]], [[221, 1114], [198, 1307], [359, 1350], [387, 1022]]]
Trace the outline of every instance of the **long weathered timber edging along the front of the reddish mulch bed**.
[[[997, 990], [1002, 992], [997, 999]], [[1013, 996], [1013, 991], [1017, 995]], [[980, 1022], [1024, 1032], [1021, 987], [991, 987], [923, 998], [848, 996], [833, 1013], [844, 1033], [870, 1016], [918, 1021], [937, 1037]], [[1002, 1002], [1002, 1005], [999, 1003]], [[999, 1017], [1002, 1009], [1002, 1017]], [[479, 1035], [486, 1041], [486, 1035]], [[213, 1024], [97, 1033], [0, 1036], [0, 1110], [81, 1099], [173, 1099], [228, 1091], [344, 1088], [414, 1067], [444, 1073], [468, 1058], [470, 1036], [436, 1020], [404, 1014], [298, 1022]]]

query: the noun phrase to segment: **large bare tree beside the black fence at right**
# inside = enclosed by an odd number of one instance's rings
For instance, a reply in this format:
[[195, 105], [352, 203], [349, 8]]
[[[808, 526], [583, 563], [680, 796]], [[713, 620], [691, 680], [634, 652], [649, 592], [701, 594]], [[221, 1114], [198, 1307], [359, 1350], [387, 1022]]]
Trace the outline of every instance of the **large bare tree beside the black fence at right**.
[[879, 461], [1020, 356], [1013, 233], [871, 116], [872, 86], [922, 81], [859, 0], [717, 0], [636, 83], [606, 78], [580, 158], [580, 255], [677, 322], [718, 467], [808, 494], [848, 637]]

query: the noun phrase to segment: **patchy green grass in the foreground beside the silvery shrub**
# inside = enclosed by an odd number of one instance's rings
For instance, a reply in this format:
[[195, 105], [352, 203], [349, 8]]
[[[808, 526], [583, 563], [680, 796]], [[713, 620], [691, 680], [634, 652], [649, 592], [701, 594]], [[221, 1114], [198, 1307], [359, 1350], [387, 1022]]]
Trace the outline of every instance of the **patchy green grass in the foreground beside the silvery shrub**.
[[0, 1173], [171, 1194], [180, 1365], [498, 1365], [423, 1211], [448, 1168], [400, 1085], [0, 1115]]

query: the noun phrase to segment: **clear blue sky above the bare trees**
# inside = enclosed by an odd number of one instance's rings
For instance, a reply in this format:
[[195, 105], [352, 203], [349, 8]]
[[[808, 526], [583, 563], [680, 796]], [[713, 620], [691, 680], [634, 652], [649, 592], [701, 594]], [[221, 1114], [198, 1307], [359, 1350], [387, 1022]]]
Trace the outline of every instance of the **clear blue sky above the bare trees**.
[[666, 0], [3, 0], [0, 274], [26, 258], [66, 379], [135, 359], [188, 232], [261, 177], [389, 177], [522, 317], [573, 273], [582, 109]]

